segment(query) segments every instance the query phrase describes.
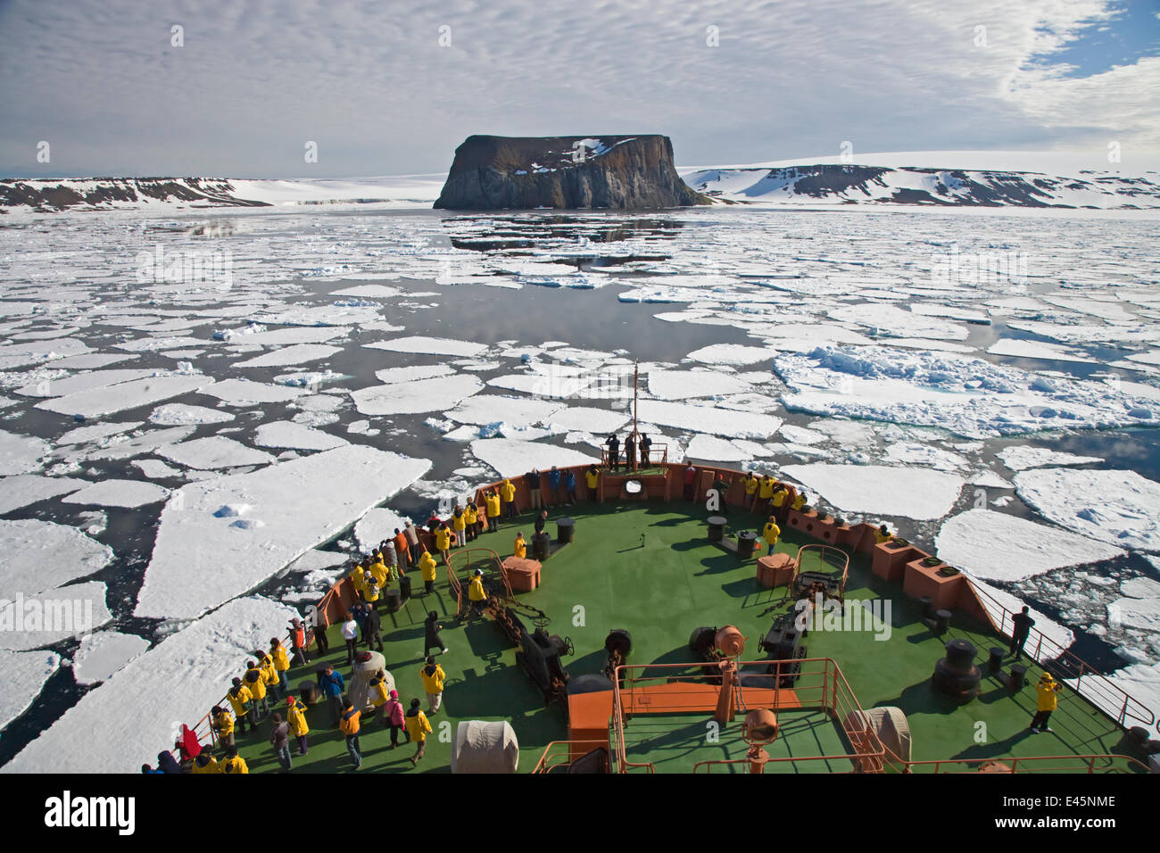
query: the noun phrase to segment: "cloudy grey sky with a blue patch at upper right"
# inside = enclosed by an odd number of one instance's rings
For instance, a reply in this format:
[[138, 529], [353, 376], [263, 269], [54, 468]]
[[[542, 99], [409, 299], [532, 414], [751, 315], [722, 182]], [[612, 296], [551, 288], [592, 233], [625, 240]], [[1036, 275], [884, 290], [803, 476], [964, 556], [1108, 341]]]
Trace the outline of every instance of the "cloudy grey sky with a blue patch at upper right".
[[1158, 93], [1160, 0], [0, 0], [3, 176], [443, 172], [470, 133], [1126, 166]]

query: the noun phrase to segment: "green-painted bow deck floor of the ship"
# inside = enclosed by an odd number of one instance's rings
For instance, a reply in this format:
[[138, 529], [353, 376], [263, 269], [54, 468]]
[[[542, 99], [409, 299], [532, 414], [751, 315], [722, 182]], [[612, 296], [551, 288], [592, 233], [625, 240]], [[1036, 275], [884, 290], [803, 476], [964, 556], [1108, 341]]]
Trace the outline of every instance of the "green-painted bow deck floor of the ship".
[[[583, 504], [572, 509], [575, 512], [571, 515], [577, 519], [575, 542], [544, 563], [538, 590], [517, 597], [548, 613], [552, 619], [551, 634], [571, 637], [575, 656], [564, 658], [564, 664], [572, 675], [601, 671], [604, 637], [615, 628], [632, 634], [630, 664], [689, 662], [687, 643], [694, 628], [730, 623], [749, 638], [746, 659], [767, 657], [757, 644], [774, 614], [760, 614], [781, 599], [784, 590], [757, 587], [754, 561], [742, 563], [710, 544], [704, 523], [708, 513], [701, 507], [673, 504], [616, 508]], [[759, 526], [756, 515], [740, 511], [731, 512], [728, 518], [739, 529]], [[530, 528], [531, 515], [525, 513], [516, 523], [502, 525], [499, 533], [484, 534], [476, 544], [490, 547], [502, 557], [512, 552], [515, 532], [524, 529], [530, 537]], [[554, 532], [554, 525], [550, 529]], [[777, 550], [796, 554], [799, 545], [810, 542], [791, 532]], [[846, 597], [847, 600], [889, 599], [891, 638], [878, 642], [870, 632], [811, 631], [806, 637], [809, 656], [835, 659], [863, 708], [902, 708], [911, 724], [913, 760], [1122, 751], [1123, 730], [1071, 691], [1061, 694], [1059, 709], [1052, 715], [1054, 731], [1041, 735], [1032, 735], [1027, 728], [1035, 711], [1035, 691], [1030, 685], [1013, 696], [998, 680], [985, 675], [980, 696], [963, 707], [937, 694], [930, 686], [930, 673], [943, 656], [947, 639], [969, 638], [979, 650], [980, 664], [985, 664], [989, 646], [1005, 643], [989, 626], [972, 623], [959, 614], [952, 620], [948, 636], [934, 636], [921, 622], [918, 603], [906, 598], [900, 586], [876, 578], [868, 557], [857, 555], [851, 559]], [[427, 753], [418, 771], [412, 769], [409, 761], [414, 746], [404, 744], [392, 750], [387, 732], [380, 728], [380, 721], [375, 721], [364, 728], [361, 738], [361, 772], [448, 772], [451, 739], [461, 720], [507, 720], [520, 740], [522, 772], [535, 767], [548, 743], [567, 737], [561, 709], [544, 707], [542, 694], [516, 665], [516, 649], [499, 626], [479, 619], [459, 624], [454, 616], [455, 606], [441, 566], [433, 595], [426, 600], [412, 599], [398, 613], [384, 613], [384, 655], [404, 704], [412, 697], [423, 697], [420, 646], [422, 620], [428, 609], [436, 609], [445, 617], [443, 639], [450, 652], [438, 660], [448, 673], [448, 682], [443, 708], [432, 717], [435, 732], [428, 738]], [[524, 622], [530, 630], [530, 621]], [[338, 637], [338, 627], [331, 628], [329, 636], [331, 652], [325, 660], [334, 663], [347, 677], [346, 646]], [[309, 671], [292, 670], [291, 684], [313, 679], [314, 663]], [[1038, 674], [1039, 670], [1029, 665], [1030, 684]], [[651, 761], [658, 772], [690, 772], [697, 761], [744, 757], [740, 717], [722, 730], [716, 743], [706, 743], [708, 720], [708, 715], [638, 715], [625, 728], [628, 758]], [[848, 752], [839, 727], [819, 711], [783, 710], [780, 720], [782, 737], [768, 747], [774, 758]], [[307, 721], [310, 752], [300, 759], [295, 751], [293, 772], [348, 771], [350, 760], [345, 742], [328, 724], [328, 709], [312, 708]], [[980, 722], [985, 723], [985, 730], [977, 725]], [[238, 739], [252, 772], [278, 769], [267, 742], [269, 729], [270, 724], [263, 722], [260, 735]], [[713, 769], [731, 767], [741, 766]], [[784, 762], [773, 767], [781, 772], [849, 769], [846, 761]]]

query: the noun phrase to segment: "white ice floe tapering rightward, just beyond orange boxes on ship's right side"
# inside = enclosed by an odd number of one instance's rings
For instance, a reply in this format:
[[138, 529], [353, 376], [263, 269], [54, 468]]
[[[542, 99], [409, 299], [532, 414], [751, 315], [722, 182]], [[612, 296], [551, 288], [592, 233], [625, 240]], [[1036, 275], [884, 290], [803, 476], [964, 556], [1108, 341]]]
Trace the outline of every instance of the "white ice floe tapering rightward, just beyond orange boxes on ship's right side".
[[985, 580], [1015, 581], [1123, 554], [1086, 536], [991, 509], [967, 509], [943, 522], [938, 556]]

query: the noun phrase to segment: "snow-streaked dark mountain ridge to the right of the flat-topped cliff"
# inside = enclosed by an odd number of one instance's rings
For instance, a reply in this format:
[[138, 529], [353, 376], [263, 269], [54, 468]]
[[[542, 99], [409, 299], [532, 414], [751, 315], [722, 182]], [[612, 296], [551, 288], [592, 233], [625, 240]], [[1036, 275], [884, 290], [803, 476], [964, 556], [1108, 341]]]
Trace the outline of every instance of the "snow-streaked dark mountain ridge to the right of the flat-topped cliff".
[[704, 168], [683, 175], [698, 193], [724, 203], [908, 204], [927, 207], [1031, 207], [1155, 209], [1160, 175], [1083, 173], [1061, 178], [1003, 169], [817, 164], [812, 166]]

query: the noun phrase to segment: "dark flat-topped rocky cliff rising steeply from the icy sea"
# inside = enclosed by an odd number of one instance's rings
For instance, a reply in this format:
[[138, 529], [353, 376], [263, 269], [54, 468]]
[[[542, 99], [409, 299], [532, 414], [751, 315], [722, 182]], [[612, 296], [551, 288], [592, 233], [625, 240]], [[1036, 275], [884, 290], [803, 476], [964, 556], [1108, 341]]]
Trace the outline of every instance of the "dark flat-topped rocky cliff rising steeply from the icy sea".
[[435, 202], [447, 210], [706, 204], [676, 174], [667, 136], [469, 136]]

